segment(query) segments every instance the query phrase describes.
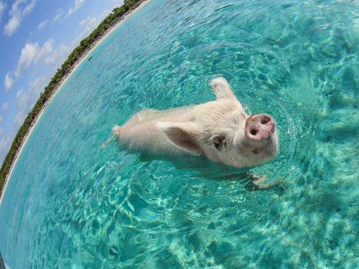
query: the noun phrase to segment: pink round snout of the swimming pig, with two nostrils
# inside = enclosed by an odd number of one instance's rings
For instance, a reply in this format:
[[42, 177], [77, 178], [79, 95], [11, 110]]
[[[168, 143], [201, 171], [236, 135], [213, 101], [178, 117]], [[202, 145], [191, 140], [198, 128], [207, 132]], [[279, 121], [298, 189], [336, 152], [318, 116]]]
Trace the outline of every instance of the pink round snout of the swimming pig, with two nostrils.
[[246, 120], [245, 134], [252, 141], [263, 141], [275, 130], [274, 119], [267, 114], [252, 115]]

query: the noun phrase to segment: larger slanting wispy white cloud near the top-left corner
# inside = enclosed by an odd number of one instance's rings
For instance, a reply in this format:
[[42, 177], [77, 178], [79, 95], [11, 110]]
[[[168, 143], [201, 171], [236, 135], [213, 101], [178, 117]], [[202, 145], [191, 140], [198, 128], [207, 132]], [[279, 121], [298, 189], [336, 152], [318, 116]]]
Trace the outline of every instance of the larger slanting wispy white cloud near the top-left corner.
[[11, 36], [14, 34], [16, 29], [20, 26], [23, 18], [30, 14], [35, 7], [36, 0], [15, 0], [9, 11], [9, 22], [4, 26], [4, 34]]

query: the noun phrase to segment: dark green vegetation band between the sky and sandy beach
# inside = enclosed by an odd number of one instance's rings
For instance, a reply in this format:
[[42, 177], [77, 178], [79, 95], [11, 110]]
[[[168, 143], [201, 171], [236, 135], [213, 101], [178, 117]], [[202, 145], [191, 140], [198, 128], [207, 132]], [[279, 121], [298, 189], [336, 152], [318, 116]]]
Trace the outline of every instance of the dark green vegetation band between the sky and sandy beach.
[[8, 154], [6, 155], [3, 165], [0, 169], [0, 194], [3, 192], [4, 184], [7, 175], [10, 172], [11, 166], [16, 159], [16, 153], [21, 149], [24, 140], [27, 137], [31, 127], [36, 121], [37, 115], [41, 113], [46, 106], [47, 101], [56, 92], [61, 82], [71, 72], [77, 60], [82, 58], [99, 40], [105, 32], [114, 26], [121, 18], [128, 12], [135, 9], [144, 0], [125, 0], [125, 3], [119, 7], [114, 8], [112, 12], [97, 26], [97, 28], [85, 39], [83, 39], [79, 46], [77, 46], [69, 55], [65, 63], [60, 69], [57, 69], [56, 74], [52, 77], [49, 85], [45, 87], [41, 93], [32, 111], [26, 117], [22, 127], [18, 130]]

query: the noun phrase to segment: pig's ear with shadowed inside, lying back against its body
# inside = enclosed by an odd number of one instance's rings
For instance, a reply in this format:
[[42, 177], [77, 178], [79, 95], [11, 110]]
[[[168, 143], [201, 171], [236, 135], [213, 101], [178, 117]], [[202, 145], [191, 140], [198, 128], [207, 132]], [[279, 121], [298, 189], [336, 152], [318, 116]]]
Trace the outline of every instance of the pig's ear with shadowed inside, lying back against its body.
[[162, 131], [175, 146], [192, 153], [201, 154], [199, 146], [200, 128], [194, 122], [158, 122], [157, 129]]

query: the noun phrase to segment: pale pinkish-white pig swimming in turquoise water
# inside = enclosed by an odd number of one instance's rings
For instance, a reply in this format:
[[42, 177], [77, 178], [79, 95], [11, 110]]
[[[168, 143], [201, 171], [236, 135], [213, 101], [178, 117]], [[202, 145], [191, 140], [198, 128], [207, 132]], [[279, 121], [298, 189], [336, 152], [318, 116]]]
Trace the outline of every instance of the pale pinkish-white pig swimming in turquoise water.
[[114, 126], [114, 137], [126, 150], [151, 156], [206, 156], [234, 168], [272, 160], [278, 151], [273, 117], [247, 115], [223, 77], [212, 79], [210, 86], [214, 101], [163, 111], [141, 110], [124, 125]]

